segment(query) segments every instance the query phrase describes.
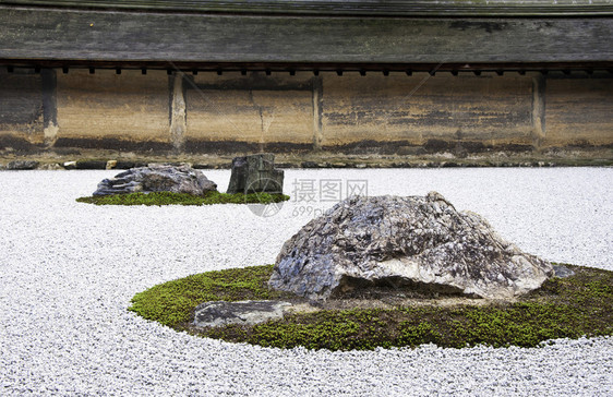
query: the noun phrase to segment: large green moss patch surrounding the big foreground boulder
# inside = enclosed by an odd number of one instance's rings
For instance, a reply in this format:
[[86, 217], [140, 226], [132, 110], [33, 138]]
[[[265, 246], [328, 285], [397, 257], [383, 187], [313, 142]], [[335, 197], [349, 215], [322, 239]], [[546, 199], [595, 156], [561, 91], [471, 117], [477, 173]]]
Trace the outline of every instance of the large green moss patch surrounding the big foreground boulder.
[[283, 299], [293, 294], [267, 288], [273, 266], [207, 272], [155, 286], [129, 309], [177, 330], [236, 342], [310, 349], [351, 350], [436, 344], [461, 348], [536, 347], [554, 338], [613, 335], [613, 272], [572, 266], [575, 276], [552, 278], [514, 303], [321, 310], [287, 314], [254, 326], [194, 328], [195, 306], [204, 301]]

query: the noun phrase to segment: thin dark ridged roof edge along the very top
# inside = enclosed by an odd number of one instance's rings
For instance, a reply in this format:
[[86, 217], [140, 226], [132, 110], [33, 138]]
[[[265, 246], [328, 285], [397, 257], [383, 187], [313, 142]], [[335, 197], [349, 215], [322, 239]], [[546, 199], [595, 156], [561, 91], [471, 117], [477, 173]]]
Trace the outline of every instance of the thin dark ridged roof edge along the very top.
[[0, 4], [148, 12], [329, 16], [608, 16], [613, 0], [0, 0]]

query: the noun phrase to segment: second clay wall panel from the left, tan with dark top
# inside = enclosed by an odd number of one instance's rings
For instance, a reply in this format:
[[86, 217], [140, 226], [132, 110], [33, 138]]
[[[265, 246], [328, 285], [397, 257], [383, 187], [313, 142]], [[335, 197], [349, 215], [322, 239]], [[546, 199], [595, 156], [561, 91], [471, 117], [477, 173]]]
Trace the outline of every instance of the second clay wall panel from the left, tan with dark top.
[[57, 81], [58, 139], [170, 141], [166, 72], [59, 71]]

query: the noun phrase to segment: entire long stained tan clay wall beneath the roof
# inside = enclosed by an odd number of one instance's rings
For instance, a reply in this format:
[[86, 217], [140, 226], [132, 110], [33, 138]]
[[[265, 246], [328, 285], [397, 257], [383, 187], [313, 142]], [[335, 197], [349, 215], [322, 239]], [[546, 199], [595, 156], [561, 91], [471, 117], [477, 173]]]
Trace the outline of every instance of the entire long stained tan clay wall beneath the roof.
[[457, 143], [474, 149], [613, 144], [613, 77], [606, 73], [94, 72], [0, 72], [3, 142], [400, 154]]

